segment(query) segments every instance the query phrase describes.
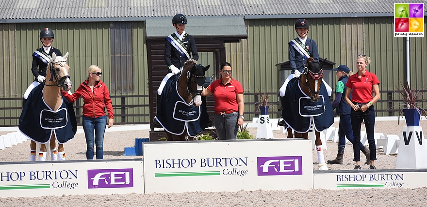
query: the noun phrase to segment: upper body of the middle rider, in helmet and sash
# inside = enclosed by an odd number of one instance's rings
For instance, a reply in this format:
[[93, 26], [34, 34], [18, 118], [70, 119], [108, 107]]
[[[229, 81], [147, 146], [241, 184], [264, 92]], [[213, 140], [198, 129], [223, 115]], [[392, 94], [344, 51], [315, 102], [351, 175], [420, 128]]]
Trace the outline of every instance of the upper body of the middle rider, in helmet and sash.
[[198, 60], [196, 42], [193, 36], [187, 34], [185, 25], [187, 17], [177, 14], [172, 18], [172, 26], [175, 27], [175, 33], [166, 37], [164, 45], [164, 61], [169, 67], [169, 73], [178, 74], [184, 62], [191, 59]]

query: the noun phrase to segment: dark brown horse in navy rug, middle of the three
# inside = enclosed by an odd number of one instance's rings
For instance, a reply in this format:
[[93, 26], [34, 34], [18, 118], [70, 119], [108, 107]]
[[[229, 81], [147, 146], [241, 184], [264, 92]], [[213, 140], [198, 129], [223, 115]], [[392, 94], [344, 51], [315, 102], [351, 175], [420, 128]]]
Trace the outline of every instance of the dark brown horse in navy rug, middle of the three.
[[185, 141], [188, 134], [201, 133], [209, 122], [202, 104], [202, 86], [206, 80], [204, 67], [194, 59], [187, 60], [182, 72], [172, 75], [157, 99], [157, 121], [167, 134], [167, 141]]

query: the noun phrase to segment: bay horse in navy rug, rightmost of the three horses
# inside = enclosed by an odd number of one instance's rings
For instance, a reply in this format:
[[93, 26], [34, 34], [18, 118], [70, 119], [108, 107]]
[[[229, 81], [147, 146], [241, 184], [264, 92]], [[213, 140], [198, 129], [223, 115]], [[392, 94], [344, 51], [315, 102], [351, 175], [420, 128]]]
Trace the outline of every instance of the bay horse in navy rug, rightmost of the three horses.
[[[326, 60], [326, 59], [325, 59]], [[283, 101], [282, 117], [288, 128], [288, 138], [308, 139], [308, 132], [313, 125], [316, 140], [319, 170], [328, 170], [321, 148], [320, 133], [333, 124], [333, 109], [329, 101], [327, 89], [323, 81], [323, 64], [313, 58], [307, 60], [304, 73], [293, 78], [286, 88]]]

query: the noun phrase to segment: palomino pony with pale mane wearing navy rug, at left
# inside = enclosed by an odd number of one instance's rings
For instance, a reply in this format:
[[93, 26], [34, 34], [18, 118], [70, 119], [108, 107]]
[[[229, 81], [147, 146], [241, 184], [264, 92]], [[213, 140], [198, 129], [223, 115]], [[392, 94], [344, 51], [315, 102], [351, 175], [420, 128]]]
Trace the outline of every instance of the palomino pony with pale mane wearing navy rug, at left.
[[48, 64], [46, 83], [33, 89], [19, 118], [19, 130], [31, 139], [31, 155], [35, 154], [36, 142], [41, 144], [40, 161], [46, 160], [45, 144], [48, 142], [51, 160], [58, 160], [58, 157], [59, 160], [65, 160], [63, 144], [71, 140], [77, 131], [73, 104], [61, 95], [61, 89], [68, 91], [73, 85], [68, 73], [70, 67], [66, 62], [67, 57], [68, 52], [64, 57], [53, 53]]

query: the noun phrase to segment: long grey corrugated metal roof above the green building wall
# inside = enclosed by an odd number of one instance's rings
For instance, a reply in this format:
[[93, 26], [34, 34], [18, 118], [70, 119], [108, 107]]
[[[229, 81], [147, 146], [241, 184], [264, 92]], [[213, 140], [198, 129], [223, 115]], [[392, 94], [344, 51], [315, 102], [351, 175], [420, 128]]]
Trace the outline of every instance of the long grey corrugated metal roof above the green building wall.
[[[394, 2], [395, 0], [1, 0], [0, 20], [5, 23], [18, 19], [149, 18], [173, 16], [177, 13], [187, 16], [225, 15], [245, 18], [295, 18], [296, 15], [393, 16]], [[411, 3], [424, 3], [424, 11], [427, 13], [427, 0], [411, 0]]]

